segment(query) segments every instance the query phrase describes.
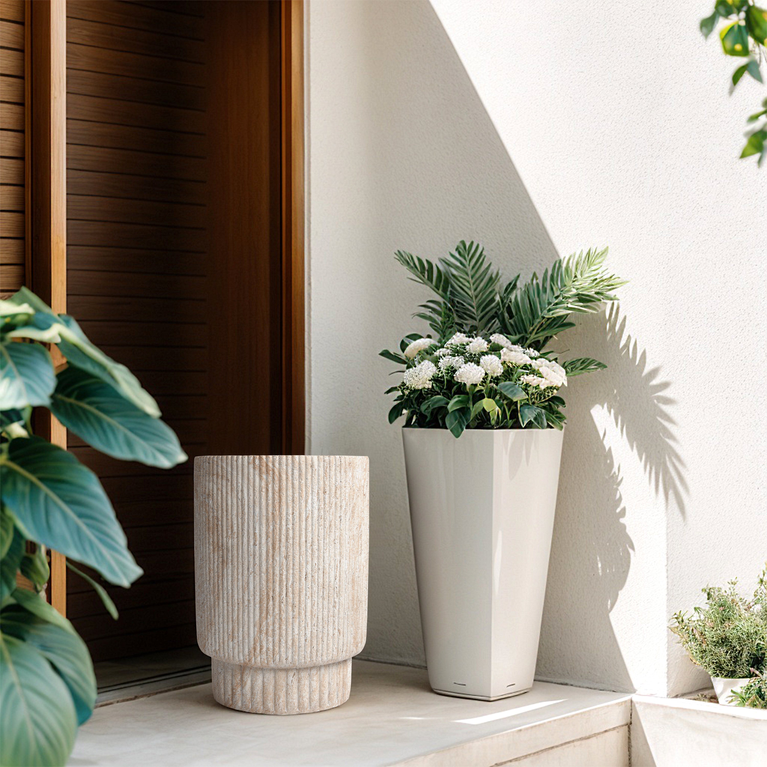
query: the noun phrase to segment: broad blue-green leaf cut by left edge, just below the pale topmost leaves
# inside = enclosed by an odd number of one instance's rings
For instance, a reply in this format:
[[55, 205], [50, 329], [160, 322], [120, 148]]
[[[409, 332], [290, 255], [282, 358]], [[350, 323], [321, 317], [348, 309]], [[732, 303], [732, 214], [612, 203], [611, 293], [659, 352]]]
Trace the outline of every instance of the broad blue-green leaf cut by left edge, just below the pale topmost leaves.
[[0, 410], [48, 405], [55, 385], [51, 355], [39, 344], [0, 344]]

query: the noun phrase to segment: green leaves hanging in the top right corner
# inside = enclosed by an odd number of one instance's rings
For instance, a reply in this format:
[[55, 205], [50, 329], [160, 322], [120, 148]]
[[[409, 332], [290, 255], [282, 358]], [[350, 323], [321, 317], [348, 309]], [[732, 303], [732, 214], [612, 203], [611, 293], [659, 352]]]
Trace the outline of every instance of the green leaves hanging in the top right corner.
[[[765, 44], [767, 44], [767, 11], [759, 8], [753, 0], [717, 0], [713, 13], [700, 22], [700, 31], [703, 36], [708, 36], [714, 31], [719, 21], [725, 21], [725, 25], [719, 31], [719, 39], [722, 41], [722, 50], [727, 56], [747, 58], [748, 61], [741, 64], [732, 73], [732, 87], [735, 87], [743, 75], [749, 74], [754, 80], [763, 83], [760, 69], [763, 61], [767, 61]], [[752, 114], [748, 122], [762, 123], [748, 134], [746, 146], [743, 147], [741, 157], [759, 155], [758, 164], [767, 155], [767, 98], [762, 101], [762, 110]]]

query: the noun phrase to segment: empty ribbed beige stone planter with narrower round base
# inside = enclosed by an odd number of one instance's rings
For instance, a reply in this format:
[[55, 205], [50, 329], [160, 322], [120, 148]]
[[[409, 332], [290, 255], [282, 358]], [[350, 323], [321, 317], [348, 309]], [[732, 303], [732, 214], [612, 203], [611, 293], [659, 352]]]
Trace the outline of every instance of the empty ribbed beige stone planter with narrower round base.
[[197, 642], [241, 711], [340, 706], [367, 627], [364, 456], [195, 459]]

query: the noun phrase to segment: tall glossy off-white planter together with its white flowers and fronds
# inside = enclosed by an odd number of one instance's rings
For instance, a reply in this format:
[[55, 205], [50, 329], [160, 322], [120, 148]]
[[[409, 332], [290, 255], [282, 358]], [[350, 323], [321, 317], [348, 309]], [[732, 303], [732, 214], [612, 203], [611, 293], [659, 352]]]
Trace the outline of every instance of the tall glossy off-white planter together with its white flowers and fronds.
[[[391, 387], [403, 443], [426, 665], [438, 693], [495, 700], [532, 686], [557, 497], [568, 377], [548, 344], [623, 284], [607, 249], [502, 282], [480, 245], [437, 263], [396, 258], [435, 294], [415, 315]], [[457, 439], [456, 439], [457, 438]]]

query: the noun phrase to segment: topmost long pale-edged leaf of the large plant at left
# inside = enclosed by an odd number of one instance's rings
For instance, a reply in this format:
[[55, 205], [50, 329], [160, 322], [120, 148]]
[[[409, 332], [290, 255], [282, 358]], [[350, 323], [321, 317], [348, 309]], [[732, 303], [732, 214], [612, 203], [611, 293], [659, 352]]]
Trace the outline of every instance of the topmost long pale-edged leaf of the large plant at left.
[[[125, 365], [115, 362], [98, 347], [91, 344], [80, 325], [73, 318], [67, 314], [55, 314], [48, 304], [41, 301], [27, 288], [21, 288], [8, 300], [19, 305], [28, 304], [37, 313], [35, 314], [34, 333], [29, 328], [20, 328], [10, 335], [40, 337], [39, 333], [51, 334], [56, 331], [58, 340], [53, 342], [58, 345], [61, 354], [64, 354], [67, 360], [114, 386], [123, 397], [140, 407], [148, 415], [153, 418], [160, 416], [160, 408], [157, 407], [157, 403], [150, 393], [141, 387], [137, 377]], [[44, 324], [43, 320], [48, 323], [48, 328], [45, 331], [38, 331], [37, 326]]]

